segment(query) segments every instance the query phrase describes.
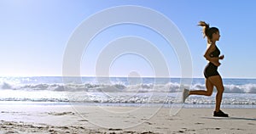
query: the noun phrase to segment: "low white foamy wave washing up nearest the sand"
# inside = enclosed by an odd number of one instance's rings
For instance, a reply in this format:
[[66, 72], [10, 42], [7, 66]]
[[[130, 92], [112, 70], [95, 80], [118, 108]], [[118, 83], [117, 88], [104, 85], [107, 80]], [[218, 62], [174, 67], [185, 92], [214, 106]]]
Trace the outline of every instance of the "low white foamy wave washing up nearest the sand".
[[[53, 91], [0, 91], [0, 104], [23, 103], [119, 103], [119, 104], [178, 104], [181, 92], [53, 92]], [[211, 97], [191, 96], [188, 104], [215, 104], [215, 95]], [[256, 94], [224, 94], [223, 104], [256, 105]]]

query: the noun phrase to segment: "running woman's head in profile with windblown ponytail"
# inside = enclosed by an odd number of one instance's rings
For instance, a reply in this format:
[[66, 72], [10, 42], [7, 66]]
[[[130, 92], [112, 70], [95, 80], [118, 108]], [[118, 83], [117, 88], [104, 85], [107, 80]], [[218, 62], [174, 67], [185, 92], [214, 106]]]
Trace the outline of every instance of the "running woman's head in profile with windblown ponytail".
[[204, 37], [207, 36], [207, 42], [218, 41], [219, 31], [217, 27], [210, 27], [205, 21], [200, 21], [199, 24], [203, 27]]

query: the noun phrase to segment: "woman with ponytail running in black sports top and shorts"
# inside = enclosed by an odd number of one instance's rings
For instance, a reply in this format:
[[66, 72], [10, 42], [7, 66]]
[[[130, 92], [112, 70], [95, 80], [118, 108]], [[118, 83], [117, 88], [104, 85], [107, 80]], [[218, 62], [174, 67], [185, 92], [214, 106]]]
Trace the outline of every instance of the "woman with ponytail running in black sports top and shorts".
[[221, 76], [218, 74], [218, 66], [220, 65], [219, 59], [224, 59], [224, 55], [219, 56], [220, 51], [216, 46], [216, 42], [219, 40], [219, 31], [216, 27], [210, 27], [206, 22], [200, 21], [199, 26], [203, 28], [204, 37], [207, 36], [207, 51], [204, 57], [209, 61], [207, 64], [204, 75], [206, 77], [206, 87], [207, 91], [195, 90], [189, 91], [188, 89], [183, 90], [183, 102], [189, 95], [205, 95], [211, 96], [213, 87], [217, 88], [216, 94], [216, 106], [213, 112], [213, 116], [218, 117], [228, 117], [229, 114], [225, 114], [220, 110], [220, 104], [222, 100], [222, 95], [224, 92], [224, 86]]

